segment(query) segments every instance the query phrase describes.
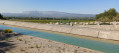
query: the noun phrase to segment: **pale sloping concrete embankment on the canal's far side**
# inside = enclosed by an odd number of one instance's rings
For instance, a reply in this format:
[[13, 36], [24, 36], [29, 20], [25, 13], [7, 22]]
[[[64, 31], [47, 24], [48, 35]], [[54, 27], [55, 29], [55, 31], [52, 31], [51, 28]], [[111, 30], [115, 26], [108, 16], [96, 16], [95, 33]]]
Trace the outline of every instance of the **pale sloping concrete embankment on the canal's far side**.
[[111, 25], [101, 25], [102, 28], [97, 25], [72, 27], [72, 26], [65, 26], [65, 25], [38, 24], [38, 23], [4, 21], [4, 20], [0, 20], [0, 24], [78, 34], [78, 35], [91, 36], [96, 38], [119, 40], [118, 25], [116, 25], [115, 27]]

